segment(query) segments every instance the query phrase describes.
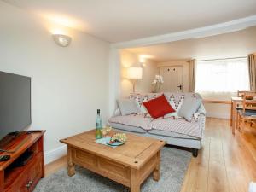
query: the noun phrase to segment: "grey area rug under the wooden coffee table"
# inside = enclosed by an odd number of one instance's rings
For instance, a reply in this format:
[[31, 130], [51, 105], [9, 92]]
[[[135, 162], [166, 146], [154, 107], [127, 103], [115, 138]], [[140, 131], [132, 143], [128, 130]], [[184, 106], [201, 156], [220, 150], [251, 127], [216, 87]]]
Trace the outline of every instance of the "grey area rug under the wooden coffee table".
[[[187, 171], [191, 153], [165, 147], [161, 153], [160, 180], [155, 182], [152, 176], [141, 185], [142, 192], [179, 192]], [[129, 192], [130, 189], [97, 175], [94, 172], [76, 166], [76, 174], [67, 176], [62, 169], [49, 177], [41, 179], [34, 192]]]

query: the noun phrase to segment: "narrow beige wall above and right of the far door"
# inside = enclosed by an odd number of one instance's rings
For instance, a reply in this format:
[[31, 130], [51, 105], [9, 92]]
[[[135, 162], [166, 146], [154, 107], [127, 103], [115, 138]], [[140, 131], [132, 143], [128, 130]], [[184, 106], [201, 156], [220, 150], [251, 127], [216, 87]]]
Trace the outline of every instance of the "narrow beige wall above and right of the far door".
[[[183, 92], [189, 91], [189, 63], [188, 60], [176, 60], [157, 63], [157, 67], [183, 66]], [[164, 79], [165, 81], [165, 79]]]

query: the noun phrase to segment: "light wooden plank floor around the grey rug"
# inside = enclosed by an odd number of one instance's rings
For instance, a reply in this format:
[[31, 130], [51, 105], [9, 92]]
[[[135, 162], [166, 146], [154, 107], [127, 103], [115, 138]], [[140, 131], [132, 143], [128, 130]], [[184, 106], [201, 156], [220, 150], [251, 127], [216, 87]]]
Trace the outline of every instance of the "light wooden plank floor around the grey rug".
[[[63, 157], [45, 167], [46, 176], [67, 166]], [[256, 128], [232, 135], [230, 121], [207, 119], [203, 147], [192, 158], [181, 192], [247, 192], [256, 182]]]

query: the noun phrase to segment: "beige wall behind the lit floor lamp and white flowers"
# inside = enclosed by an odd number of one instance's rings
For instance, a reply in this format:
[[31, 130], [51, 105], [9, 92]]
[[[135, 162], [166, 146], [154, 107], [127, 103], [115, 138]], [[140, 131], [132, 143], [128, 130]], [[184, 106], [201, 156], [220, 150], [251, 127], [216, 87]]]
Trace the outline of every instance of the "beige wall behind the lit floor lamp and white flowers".
[[[158, 69], [154, 61], [146, 60], [146, 65], [143, 67], [143, 79], [137, 80], [135, 91], [136, 92], [151, 92], [151, 83], [154, 79], [154, 75], [158, 74]], [[127, 97], [132, 92], [131, 80], [126, 79], [127, 67], [141, 67], [139, 64], [138, 55], [129, 51], [122, 50], [120, 52], [120, 64], [121, 64], [121, 84], [120, 84], [120, 96]]]

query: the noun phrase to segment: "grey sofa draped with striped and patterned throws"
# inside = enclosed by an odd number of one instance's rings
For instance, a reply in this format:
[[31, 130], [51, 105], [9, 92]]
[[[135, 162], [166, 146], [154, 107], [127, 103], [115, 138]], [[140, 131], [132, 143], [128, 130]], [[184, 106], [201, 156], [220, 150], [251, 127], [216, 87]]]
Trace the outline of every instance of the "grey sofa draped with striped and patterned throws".
[[[181, 107], [183, 100], [188, 96], [199, 97], [195, 93], [164, 93], [166, 99], [177, 112]], [[160, 93], [139, 94], [133, 93], [130, 98], [137, 102], [138, 108], [143, 108], [143, 102], [160, 96]], [[142, 110], [143, 111], [143, 110]], [[179, 118], [177, 113], [167, 115], [164, 118], [152, 119], [148, 114], [138, 113], [122, 116], [117, 108], [116, 113], [108, 120], [108, 124], [114, 129], [123, 132], [132, 132], [145, 137], [155, 137], [165, 140], [166, 143], [192, 148], [192, 154], [197, 156], [201, 148], [201, 140], [205, 129], [206, 111], [201, 107], [193, 115], [189, 122], [186, 119]]]

